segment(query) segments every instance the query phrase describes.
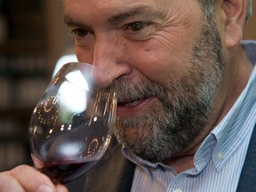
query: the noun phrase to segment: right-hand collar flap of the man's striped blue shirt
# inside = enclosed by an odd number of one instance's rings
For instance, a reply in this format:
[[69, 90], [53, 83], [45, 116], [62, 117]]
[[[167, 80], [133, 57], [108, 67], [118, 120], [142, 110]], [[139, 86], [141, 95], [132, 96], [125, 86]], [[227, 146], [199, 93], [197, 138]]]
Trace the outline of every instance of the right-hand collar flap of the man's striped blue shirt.
[[[256, 98], [256, 67], [244, 91], [236, 100], [228, 114], [211, 132], [214, 135], [216, 148], [212, 154], [213, 164], [220, 171], [244, 141], [250, 129], [244, 126], [246, 118], [241, 111], [250, 111]], [[254, 98], [254, 99], [253, 99]]]

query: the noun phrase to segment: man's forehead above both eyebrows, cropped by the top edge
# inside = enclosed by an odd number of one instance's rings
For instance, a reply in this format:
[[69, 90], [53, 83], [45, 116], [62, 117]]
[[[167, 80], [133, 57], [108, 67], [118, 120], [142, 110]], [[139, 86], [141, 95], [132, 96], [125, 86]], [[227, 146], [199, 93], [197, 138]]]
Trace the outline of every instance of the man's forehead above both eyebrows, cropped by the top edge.
[[[96, 20], [105, 19], [124, 12], [136, 14], [138, 12], [164, 15], [183, 14], [191, 11], [196, 0], [63, 0], [64, 12], [72, 18], [82, 17]], [[198, 3], [198, 2], [197, 2]], [[194, 4], [194, 5], [192, 5]], [[192, 6], [191, 6], [192, 5]], [[198, 4], [197, 4], [198, 5]], [[192, 9], [194, 9], [193, 7]], [[127, 16], [127, 15], [126, 15]], [[84, 19], [85, 20], [85, 19]]]

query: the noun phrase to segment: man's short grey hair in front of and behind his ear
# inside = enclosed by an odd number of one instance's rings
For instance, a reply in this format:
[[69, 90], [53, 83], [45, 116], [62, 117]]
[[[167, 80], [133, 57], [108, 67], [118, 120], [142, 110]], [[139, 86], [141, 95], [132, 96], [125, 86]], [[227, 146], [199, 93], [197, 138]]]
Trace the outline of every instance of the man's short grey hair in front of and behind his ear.
[[[203, 11], [206, 17], [212, 17], [214, 14], [214, 4], [216, 3], [216, 0], [198, 0], [198, 1], [202, 5]], [[246, 20], [248, 20], [252, 14], [253, 1], [254, 0], [248, 0]]]

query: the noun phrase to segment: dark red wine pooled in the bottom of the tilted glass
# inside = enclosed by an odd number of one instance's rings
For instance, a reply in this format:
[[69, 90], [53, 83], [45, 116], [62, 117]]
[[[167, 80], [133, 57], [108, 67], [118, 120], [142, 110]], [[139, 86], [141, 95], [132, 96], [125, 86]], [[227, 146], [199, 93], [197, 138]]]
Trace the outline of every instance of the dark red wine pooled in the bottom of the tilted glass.
[[53, 164], [52, 162], [45, 162], [44, 167], [39, 169], [43, 172], [54, 183], [68, 183], [69, 181], [75, 180], [81, 176], [84, 172], [87, 172], [92, 168], [96, 161], [91, 162], [64, 162], [59, 164]]

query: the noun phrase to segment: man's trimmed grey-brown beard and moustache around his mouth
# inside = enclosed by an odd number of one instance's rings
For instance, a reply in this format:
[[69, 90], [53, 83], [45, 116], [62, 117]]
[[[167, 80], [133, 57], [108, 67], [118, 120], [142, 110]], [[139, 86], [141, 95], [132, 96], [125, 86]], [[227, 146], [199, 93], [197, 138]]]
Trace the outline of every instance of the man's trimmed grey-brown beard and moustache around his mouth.
[[[164, 161], [188, 148], [204, 130], [223, 71], [221, 40], [214, 22], [204, 24], [202, 38], [194, 45], [193, 70], [164, 87], [146, 77], [139, 83], [119, 80], [117, 95], [134, 99], [155, 96], [159, 102], [147, 112], [131, 118], [116, 118], [117, 140], [124, 147], [152, 162]], [[132, 84], [132, 85], [131, 85]], [[125, 128], [142, 129], [134, 138], [127, 138]]]

